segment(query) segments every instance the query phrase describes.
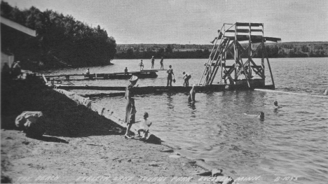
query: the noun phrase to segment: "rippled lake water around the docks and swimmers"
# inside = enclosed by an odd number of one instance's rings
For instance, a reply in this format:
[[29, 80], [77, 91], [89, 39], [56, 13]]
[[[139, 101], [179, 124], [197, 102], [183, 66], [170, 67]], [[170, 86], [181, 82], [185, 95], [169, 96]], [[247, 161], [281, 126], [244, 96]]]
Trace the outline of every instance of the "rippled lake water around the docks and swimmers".
[[[190, 83], [198, 83], [207, 59], [164, 59], [165, 69], [172, 64], [177, 83], [182, 72], [191, 73]], [[231, 61], [230, 61], [231, 62]], [[255, 62], [259, 63], [260, 60]], [[328, 89], [328, 58], [270, 59], [276, 90], [298, 94], [322, 95]], [[92, 67], [90, 73], [137, 71], [139, 60], [115, 60], [114, 65]], [[144, 59], [150, 69], [150, 59]], [[155, 69], [159, 69], [156, 59]], [[49, 73], [85, 73], [83, 69], [65, 69]], [[271, 83], [266, 67], [266, 83]], [[76, 85], [120, 85], [127, 80], [73, 81]], [[158, 78], [141, 79], [140, 86], [165, 85], [166, 72]], [[104, 91], [76, 90], [79, 94]], [[259, 183], [327, 183], [328, 181], [328, 99], [324, 97], [262, 91], [226, 91], [196, 94], [196, 104], [187, 103], [187, 94], [146, 94], [136, 97], [137, 119], [144, 111], [153, 120], [150, 132], [224, 169], [233, 178], [261, 176]], [[93, 99], [114, 108], [124, 117], [123, 97]], [[277, 100], [282, 108], [273, 109]], [[260, 111], [264, 120], [252, 117]], [[249, 114], [249, 115], [245, 115]], [[282, 181], [286, 176], [296, 181]], [[274, 180], [281, 177], [279, 182]], [[295, 178], [294, 178], [295, 179]], [[240, 183], [252, 183], [240, 181]], [[253, 182], [256, 183], [256, 182]]]

